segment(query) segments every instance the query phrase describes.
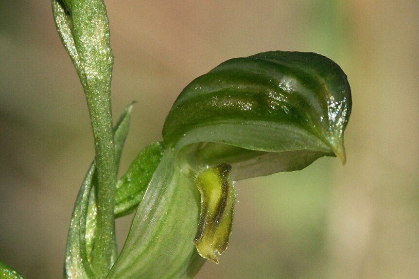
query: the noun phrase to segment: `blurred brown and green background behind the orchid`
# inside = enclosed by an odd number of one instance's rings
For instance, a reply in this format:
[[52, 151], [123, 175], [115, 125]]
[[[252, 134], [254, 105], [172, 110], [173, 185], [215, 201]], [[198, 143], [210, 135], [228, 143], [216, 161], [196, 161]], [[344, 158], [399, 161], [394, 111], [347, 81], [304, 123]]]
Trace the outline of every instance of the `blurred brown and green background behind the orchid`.
[[[135, 99], [122, 172], [161, 140], [195, 77], [267, 50], [314, 51], [347, 73], [348, 162], [236, 183], [221, 263], [198, 279], [419, 278], [416, 0], [107, 0], [116, 118]], [[0, 259], [61, 278], [70, 216], [94, 156], [82, 87], [50, 1], [0, 0]], [[122, 173], [121, 172], [121, 173]], [[120, 247], [130, 218], [117, 221]]]

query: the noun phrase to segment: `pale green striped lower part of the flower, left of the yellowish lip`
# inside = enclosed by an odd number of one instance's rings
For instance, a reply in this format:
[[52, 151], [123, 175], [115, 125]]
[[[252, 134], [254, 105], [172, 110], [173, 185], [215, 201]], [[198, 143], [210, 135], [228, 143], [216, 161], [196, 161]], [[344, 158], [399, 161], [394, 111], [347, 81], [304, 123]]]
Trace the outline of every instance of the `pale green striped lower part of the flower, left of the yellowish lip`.
[[193, 245], [199, 193], [183, 166], [166, 148], [108, 279], [193, 278], [204, 263]]

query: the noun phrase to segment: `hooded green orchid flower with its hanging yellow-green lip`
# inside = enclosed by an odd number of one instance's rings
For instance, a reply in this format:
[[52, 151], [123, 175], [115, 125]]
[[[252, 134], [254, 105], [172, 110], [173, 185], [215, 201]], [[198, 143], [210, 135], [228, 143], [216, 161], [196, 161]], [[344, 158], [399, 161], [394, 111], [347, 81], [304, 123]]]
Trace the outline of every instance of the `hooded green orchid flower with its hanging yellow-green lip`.
[[161, 161], [108, 278], [192, 278], [202, 258], [217, 263], [232, 229], [233, 181], [322, 156], [345, 163], [350, 110], [346, 75], [315, 53], [231, 59], [195, 79], [166, 118]]

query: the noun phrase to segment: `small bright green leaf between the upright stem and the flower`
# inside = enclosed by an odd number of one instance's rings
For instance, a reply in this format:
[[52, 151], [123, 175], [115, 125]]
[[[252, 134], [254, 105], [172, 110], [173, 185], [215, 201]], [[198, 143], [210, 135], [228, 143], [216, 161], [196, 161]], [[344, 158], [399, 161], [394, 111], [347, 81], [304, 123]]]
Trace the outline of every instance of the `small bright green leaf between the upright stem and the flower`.
[[164, 144], [146, 146], [134, 159], [127, 172], [116, 184], [115, 216], [132, 213], [140, 203], [147, 185], [161, 161]]

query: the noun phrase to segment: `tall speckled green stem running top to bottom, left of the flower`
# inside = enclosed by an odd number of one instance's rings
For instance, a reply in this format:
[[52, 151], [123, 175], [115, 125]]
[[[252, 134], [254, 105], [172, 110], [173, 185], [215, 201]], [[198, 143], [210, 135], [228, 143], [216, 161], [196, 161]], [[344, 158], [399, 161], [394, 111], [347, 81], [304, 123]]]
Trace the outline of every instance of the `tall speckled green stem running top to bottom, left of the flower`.
[[92, 269], [104, 278], [116, 252], [114, 203], [116, 159], [112, 131], [110, 84], [113, 55], [103, 0], [52, 0], [61, 40], [70, 54], [86, 94], [93, 130], [97, 169], [97, 228]]

